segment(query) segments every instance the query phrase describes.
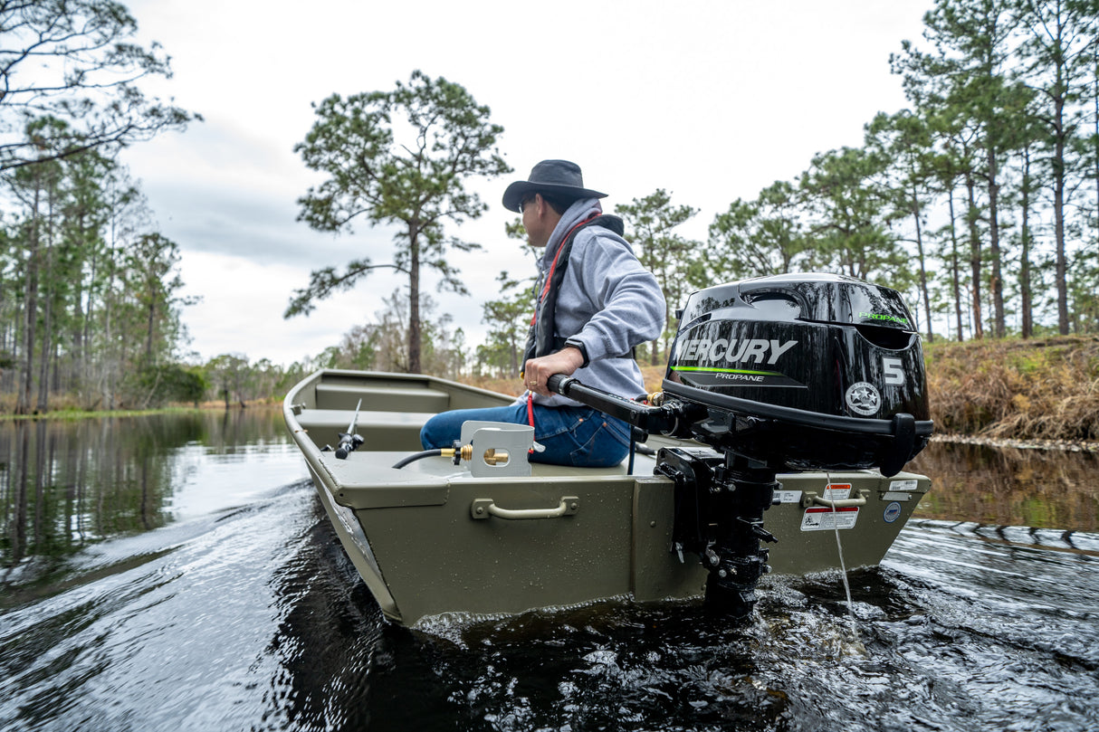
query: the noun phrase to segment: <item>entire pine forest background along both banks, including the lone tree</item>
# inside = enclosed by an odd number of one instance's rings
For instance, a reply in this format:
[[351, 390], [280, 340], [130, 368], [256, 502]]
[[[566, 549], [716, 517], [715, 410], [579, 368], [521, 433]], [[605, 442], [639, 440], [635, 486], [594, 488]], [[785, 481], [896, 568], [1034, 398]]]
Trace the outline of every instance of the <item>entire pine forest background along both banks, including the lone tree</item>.
[[[420, 291], [421, 268], [463, 289], [446, 255], [477, 243], [454, 239], [447, 225], [486, 209], [469, 179], [510, 171], [488, 108], [459, 84], [420, 73], [393, 90], [317, 104], [297, 147], [322, 180], [303, 191], [299, 220], [340, 233], [357, 217], [400, 233], [392, 263], [315, 270], [288, 293], [287, 317], [363, 277], [391, 278], [386, 307], [302, 362], [240, 353], [189, 361], [179, 245], [159, 233], [119, 152], [201, 118], [142, 92], [170, 67], [162, 49], [133, 42], [135, 31], [118, 3], [0, 2], [2, 411], [243, 404], [278, 399], [320, 367], [482, 384], [518, 373], [531, 280], [499, 274], [500, 297], [479, 313], [488, 331], [476, 344]], [[1040, 339], [1052, 347], [1020, 358], [957, 351], [981, 356], [930, 368], [933, 389], [947, 395], [953, 385], [957, 395], [936, 401], [956, 403], [978, 428], [1009, 413], [1052, 424], [1065, 417], [1062, 387], [1053, 389], [1061, 401], [1050, 401], [972, 381], [990, 366], [1007, 369], [1001, 384], [1012, 374], [1028, 381], [1041, 362], [1069, 369], [1062, 386], [1083, 390], [1073, 409], [1086, 414], [1099, 392], [1099, 3], [939, 0], [923, 37], [889, 63], [908, 106], [867, 120], [862, 146], [815, 155], [799, 176], [730, 202], [706, 241], [678, 233], [698, 210], [656, 189], [615, 207], [628, 239], [671, 308], [713, 282], [834, 271], [900, 290], [932, 366], [947, 358], [943, 341], [989, 348]], [[521, 237], [518, 221], [509, 229]], [[669, 312], [668, 329], [640, 354], [646, 371], [666, 361], [675, 328]], [[996, 403], [975, 399], [993, 393]], [[952, 424], [969, 429], [958, 420]], [[1056, 436], [1099, 437], [1094, 420], [1074, 424]]]

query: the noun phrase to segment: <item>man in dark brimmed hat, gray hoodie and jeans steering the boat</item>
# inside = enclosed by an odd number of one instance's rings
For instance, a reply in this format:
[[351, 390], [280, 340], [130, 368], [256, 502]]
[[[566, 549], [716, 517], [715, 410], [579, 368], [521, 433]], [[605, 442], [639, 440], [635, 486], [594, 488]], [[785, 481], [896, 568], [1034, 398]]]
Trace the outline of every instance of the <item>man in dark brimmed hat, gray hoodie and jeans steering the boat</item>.
[[526, 391], [510, 407], [433, 417], [420, 433], [425, 450], [449, 447], [463, 422], [484, 420], [533, 425], [545, 450], [532, 462], [603, 467], [626, 456], [629, 424], [546, 387], [564, 374], [624, 397], [645, 390], [633, 348], [664, 329], [664, 295], [622, 239], [622, 220], [602, 215], [606, 196], [585, 188], [568, 160], [542, 160], [528, 180], [508, 186], [503, 208], [522, 215], [531, 246], [545, 247], [524, 354]]

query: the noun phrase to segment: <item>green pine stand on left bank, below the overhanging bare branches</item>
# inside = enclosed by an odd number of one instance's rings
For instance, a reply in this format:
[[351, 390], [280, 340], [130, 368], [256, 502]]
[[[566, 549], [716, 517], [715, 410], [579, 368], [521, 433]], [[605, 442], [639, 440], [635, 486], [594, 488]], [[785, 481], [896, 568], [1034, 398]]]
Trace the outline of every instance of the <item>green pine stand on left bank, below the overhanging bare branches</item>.
[[[44, 118], [26, 134], [65, 127]], [[0, 177], [9, 202], [0, 343], [18, 366], [0, 388], [18, 395], [19, 413], [46, 411], [52, 382], [86, 407], [141, 406], [148, 391], [135, 378], [137, 359], [163, 364], [176, 348], [178, 246], [138, 228], [152, 225], [149, 217], [132, 190], [115, 193], [123, 179], [95, 151], [60, 158], [46, 151], [41, 163]]]

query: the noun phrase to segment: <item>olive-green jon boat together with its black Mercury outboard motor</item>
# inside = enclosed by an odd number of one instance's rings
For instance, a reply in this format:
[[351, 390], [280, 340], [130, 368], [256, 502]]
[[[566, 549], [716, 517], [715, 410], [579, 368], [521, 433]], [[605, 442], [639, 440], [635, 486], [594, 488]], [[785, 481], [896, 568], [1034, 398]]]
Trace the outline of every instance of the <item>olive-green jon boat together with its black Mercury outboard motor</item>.
[[290, 391], [287, 425], [388, 618], [702, 594], [743, 619], [767, 572], [836, 566], [837, 543], [847, 566], [881, 561], [929, 488], [901, 469], [934, 426], [900, 295], [778, 275], [692, 292], [676, 319], [659, 392], [547, 381], [646, 445], [612, 468], [531, 464], [518, 424], [467, 421], [449, 455], [421, 451], [432, 414], [511, 401], [453, 381], [320, 371]]

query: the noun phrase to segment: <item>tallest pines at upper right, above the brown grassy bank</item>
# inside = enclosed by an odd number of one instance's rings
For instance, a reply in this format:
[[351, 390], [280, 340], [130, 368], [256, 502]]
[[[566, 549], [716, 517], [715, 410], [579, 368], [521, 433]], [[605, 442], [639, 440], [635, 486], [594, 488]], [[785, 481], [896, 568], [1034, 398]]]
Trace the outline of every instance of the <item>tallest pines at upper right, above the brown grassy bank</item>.
[[[965, 230], [969, 292], [952, 262], [946, 270], [952, 298], [968, 300], [976, 337], [986, 323], [1001, 336], [1011, 328], [1012, 306], [1006, 298], [1018, 282], [1017, 312], [1021, 331], [1030, 335], [1041, 330], [1033, 320], [1046, 307], [1032, 297], [1045, 291], [1034, 278], [1045, 276], [1055, 292], [1050, 304], [1058, 330], [1066, 333], [1072, 325], [1068, 293], [1077, 287], [1073, 249], [1088, 239], [1074, 236], [1074, 226], [1080, 234], [1090, 229], [1091, 240], [1099, 235], [1095, 222], [1086, 223], [1070, 200], [1083, 190], [1085, 162], [1099, 151], [1099, 135], [1088, 144], [1081, 124], [1095, 121], [1099, 109], [1099, 3], [937, 0], [925, 24], [930, 48], [906, 42], [891, 62], [903, 76], [914, 114], [931, 133], [924, 149], [939, 191], [929, 187], [928, 192], [952, 195], [955, 185], [964, 188], [957, 220]], [[1099, 176], [1095, 178], [1092, 190], [1099, 193]], [[1012, 212], [1012, 206], [1021, 210]], [[1039, 217], [1051, 225], [1040, 230]], [[1012, 235], [1007, 229], [1012, 224], [1025, 236]], [[1018, 254], [1010, 249], [1017, 245]], [[957, 254], [963, 253], [955, 248], [952, 256]], [[956, 320], [961, 332], [962, 318]]]

